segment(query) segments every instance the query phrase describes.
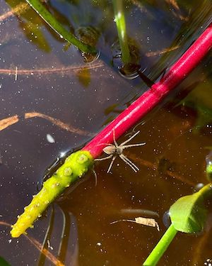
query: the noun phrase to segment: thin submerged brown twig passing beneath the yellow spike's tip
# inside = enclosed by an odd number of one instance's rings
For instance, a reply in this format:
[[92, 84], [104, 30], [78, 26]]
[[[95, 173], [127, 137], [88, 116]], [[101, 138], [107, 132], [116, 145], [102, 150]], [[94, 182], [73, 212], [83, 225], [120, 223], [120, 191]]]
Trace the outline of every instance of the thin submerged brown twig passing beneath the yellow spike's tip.
[[[12, 226], [10, 223], [6, 223], [4, 221], [0, 221], [0, 225], [9, 226], [9, 227]], [[57, 260], [57, 257], [55, 257], [52, 253], [50, 253], [49, 250], [47, 250], [46, 248], [43, 248], [42, 244], [40, 244], [35, 238], [29, 235], [26, 235], [26, 234], [23, 234], [23, 236], [27, 238], [30, 241], [30, 243], [32, 243], [35, 246], [35, 248], [37, 248], [37, 250], [40, 251], [40, 253], [44, 254], [48, 260], [54, 263], [54, 265], [64, 266], [64, 264], [60, 260]]]

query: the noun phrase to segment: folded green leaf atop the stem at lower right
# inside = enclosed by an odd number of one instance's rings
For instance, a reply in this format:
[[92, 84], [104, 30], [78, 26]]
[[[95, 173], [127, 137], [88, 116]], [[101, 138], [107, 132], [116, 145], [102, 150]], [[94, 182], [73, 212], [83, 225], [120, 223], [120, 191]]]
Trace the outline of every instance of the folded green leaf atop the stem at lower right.
[[204, 200], [211, 195], [211, 184], [207, 184], [199, 192], [178, 199], [170, 208], [170, 218], [175, 229], [184, 233], [201, 232], [207, 214]]

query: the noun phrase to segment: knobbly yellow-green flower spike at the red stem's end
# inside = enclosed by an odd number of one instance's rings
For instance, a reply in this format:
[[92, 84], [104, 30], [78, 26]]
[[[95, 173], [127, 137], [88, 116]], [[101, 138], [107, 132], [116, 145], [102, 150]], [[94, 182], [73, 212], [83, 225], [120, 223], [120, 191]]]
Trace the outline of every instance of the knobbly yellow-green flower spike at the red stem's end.
[[78, 177], [82, 177], [92, 165], [93, 157], [86, 150], [79, 150], [69, 155], [57, 172], [43, 183], [42, 189], [33, 196], [30, 205], [24, 208], [23, 214], [18, 216], [18, 220], [12, 226], [11, 236], [18, 238], [25, 233], [26, 229], [33, 227], [33, 223], [42, 216], [42, 212], [47, 209], [47, 206]]

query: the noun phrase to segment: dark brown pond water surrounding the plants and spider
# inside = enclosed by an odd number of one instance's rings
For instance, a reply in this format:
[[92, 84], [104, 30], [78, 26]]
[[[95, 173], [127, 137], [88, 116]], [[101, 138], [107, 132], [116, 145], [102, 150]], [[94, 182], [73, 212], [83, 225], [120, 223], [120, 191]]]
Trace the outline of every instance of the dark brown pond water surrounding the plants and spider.
[[[61, 153], [84, 145], [148, 89], [139, 78], [122, 77], [119, 60], [112, 65], [117, 31], [110, 1], [47, 2], [69, 31], [97, 27], [101, 55], [85, 63], [25, 2], [0, 0], [0, 256], [11, 265], [142, 265], [166, 230], [165, 212], [207, 183], [211, 54], [136, 126], [141, 133], [134, 143], [146, 145], [124, 153], [139, 172], [117, 160], [107, 174], [110, 161], [97, 162], [96, 186], [90, 172], [28, 230], [30, 239], [11, 240], [6, 223], [13, 224], [30, 203], [47, 167]], [[125, 4], [141, 70], [153, 81], [204, 31], [212, 12], [209, 0]], [[137, 216], [155, 218], [160, 231], [124, 221], [110, 224]], [[209, 214], [205, 231], [177, 233], [158, 265], [209, 265], [211, 237]], [[47, 257], [40, 253], [42, 243]]]

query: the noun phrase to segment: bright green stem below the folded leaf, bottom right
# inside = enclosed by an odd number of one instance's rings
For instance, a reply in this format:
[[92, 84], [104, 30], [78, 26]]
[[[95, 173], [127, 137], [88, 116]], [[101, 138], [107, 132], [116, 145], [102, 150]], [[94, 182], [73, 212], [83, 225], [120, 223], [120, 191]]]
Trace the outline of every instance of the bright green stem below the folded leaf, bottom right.
[[160, 260], [160, 257], [163, 256], [163, 253], [165, 253], [165, 250], [167, 250], [167, 247], [172, 242], [173, 238], [175, 237], [177, 233], [177, 230], [175, 227], [171, 224], [169, 228], [167, 228], [167, 231], [165, 231], [165, 234], [162, 238], [160, 238], [160, 241], [155, 246], [153, 251], [150, 255], [148, 255], [145, 262], [143, 262], [143, 266], [154, 266], [158, 263]]

